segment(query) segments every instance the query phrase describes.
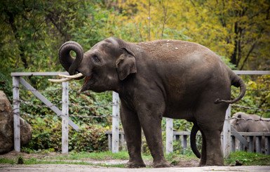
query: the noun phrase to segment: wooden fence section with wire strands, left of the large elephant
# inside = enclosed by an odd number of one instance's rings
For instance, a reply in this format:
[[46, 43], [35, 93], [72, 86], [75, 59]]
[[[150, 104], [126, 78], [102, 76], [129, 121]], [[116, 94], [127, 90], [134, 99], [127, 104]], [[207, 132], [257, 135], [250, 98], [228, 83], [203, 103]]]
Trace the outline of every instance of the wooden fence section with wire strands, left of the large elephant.
[[[33, 86], [31, 86], [25, 79], [22, 77], [27, 76], [58, 76], [58, 74], [68, 74], [67, 72], [16, 72], [11, 73], [11, 76], [13, 77], [13, 119], [14, 119], [14, 150], [17, 152], [20, 152], [20, 103], [23, 102], [25, 104], [28, 104], [28, 102], [20, 100], [20, 84], [22, 86], [25, 86], [25, 90], [32, 92], [34, 95], [36, 95], [37, 98], [39, 98], [46, 106], [37, 105], [39, 107], [48, 107], [53, 112], [56, 113], [56, 116], [62, 118], [62, 154], [68, 153], [68, 125], [72, 126], [76, 131], [79, 131], [79, 126], [77, 126], [69, 117], [83, 117], [83, 116], [74, 116], [69, 115], [69, 105], [74, 105], [73, 103], [69, 103], [69, 82], [63, 82], [62, 83], [62, 111], [56, 107], [53, 103], [51, 103], [47, 98], [45, 98], [39, 91], [37, 91]], [[113, 94], [113, 123], [115, 126], [113, 126], [114, 132], [113, 132], [113, 138], [114, 142], [112, 143], [114, 147], [114, 152], [118, 152], [119, 147], [119, 140], [117, 139], [116, 135], [118, 135], [119, 130], [119, 96], [117, 93]], [[95, 107], [82, 107], [79, 105], [74, 105], [81, 108], [95, 108]], [[100, 106], [101, 107], [101, 106]], [[27, 115], [24, 113], [24, 115]], [[31, 115], [27, 115], [31, 116]], [[46, 116], [48, 117], [48, 116]], [[87, 117], [87, 116], [86, 116]], [[103, 116], [107, 117], [107, 116]]]

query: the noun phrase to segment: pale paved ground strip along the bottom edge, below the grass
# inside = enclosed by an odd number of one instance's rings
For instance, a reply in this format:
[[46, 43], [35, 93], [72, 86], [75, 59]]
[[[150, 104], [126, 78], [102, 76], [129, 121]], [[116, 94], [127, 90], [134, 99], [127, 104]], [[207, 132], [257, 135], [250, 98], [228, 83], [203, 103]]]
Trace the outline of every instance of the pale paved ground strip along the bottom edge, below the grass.
[[36, 164], [36, 165], [11, 165], [0, 164], [0, 171], [98, 171], [98, 172], [131, 172], [131, 171], [184, 171], [184, 172], [200, 172], [200, 171], [270, 171], [270, 166], [203, 166], [203, 167], [182, 167], [182, 168], [112, 168], [102, 166], [87, 166], [87, 165], [74, 165], [74, 164]]

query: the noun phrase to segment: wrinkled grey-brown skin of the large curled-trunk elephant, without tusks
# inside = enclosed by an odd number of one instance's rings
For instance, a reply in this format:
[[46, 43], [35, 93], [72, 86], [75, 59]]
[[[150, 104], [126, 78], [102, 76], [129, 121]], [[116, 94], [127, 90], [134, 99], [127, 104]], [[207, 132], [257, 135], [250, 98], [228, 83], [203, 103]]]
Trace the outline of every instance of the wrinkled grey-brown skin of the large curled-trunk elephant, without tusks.
[[[76, 60], [69, 51], [76, 52]], [[163, 154], [162, 117], [192, 121], [203, 135], [201, 166], [222, 166], [220, 143], [229, 103], [245, 94], [243, 80], [208, 48], [186, 41], [159, 40], [138, 44], [109, 38], [83, 54], [69, 41], [59, 52], [69, 74], [81, 72], [81, 91], [116, 91], [121, 98], [121, 122], [126, 133], [129, 168], [145, 166], [142, 130], [154, 167], [167, 167]], [[241, 87], [234, 100], [231, 85]]]

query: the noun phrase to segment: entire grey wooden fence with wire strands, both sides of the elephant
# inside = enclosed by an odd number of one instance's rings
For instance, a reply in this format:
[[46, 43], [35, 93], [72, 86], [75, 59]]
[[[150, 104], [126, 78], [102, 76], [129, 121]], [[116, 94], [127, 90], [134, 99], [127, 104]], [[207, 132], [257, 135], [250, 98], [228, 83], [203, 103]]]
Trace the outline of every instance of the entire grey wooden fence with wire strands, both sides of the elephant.
[[[270, 74], [270, 71], [234, 71], [236, 74]], [[24, 100], [20, 100], [20, 89], [24, 89], [27, 91], [31, 91], [34, 95], [36, 95], [37, 98], [39, 98], [41, 101], [43, 101], [46, 104], [46, 107], [49, 107], [52, 109], [58, 117], [79, 117], [75, 116], [72, 114], [68, 114], [68, 106], [73, 105], [76, 107], [81, 107], [81, 108], [94, 108], [94, 107], [82, 107], [81, 105], [74, 105], [73, 103], [67, 102], [68, 100], [68, 82], [67, 85], [64, 86], [62, 85], [62, 101], [60, 101], [60, 104], [62, 104], [62, 111], [58, 110], [56, 105], [53, 105], [51, 102], [49, 102], [39, 91], [36, 91], [34, 87], [32, 87], [30, 84], [25, 81], [22, 77], [27, 77], [27, 76], [58, 76], [58, 74], [68, 74], [67, 72], [16, 72], [16, 73], [11, 73], [11, 76], [13, 77], [13, 112], [14, 112], [14, 147], [15, 150], [20, 152], [20, 103], [26, 103]], [[20, 87], [20, 84], [22, 86], [25, 86], [25, 88]], [[267, 91], [267, 90], [263, 90]], [[64, 93], [65, 92], [65, 93]], [[29, 104], [29, 103], [28, 103]], [[31, 105], [31, 104], [29, 104]], [[118, 152], [119, 151], [119, 144], [123, 146], [123, 133], [119, 131], [119, 95], [117, 93], [113, 93], [113, 102], [111, 104], [113, 106], [113, 112], [112, 112], [112, 123], [113, 123], [113, 131], [112, 134], [112, 152]], [[40, 105], [39, 105], [40, 106]], [[102, 106], [102, 105], [101, 105]], [[101, 107], [100, 106], [100, 107]], [[242, 108], [247, 108], [247, 109], [255, 109], [255, 110], [261, 110], [259, 108], [250, 108], [250, 107], [243, 107], [240, 105], [230, 105], [227, 113], [226, 113], [226, 118], [224, 121], [224, 139], [222, 142], [223, 150], [224, 150], [224, 155], [227, 156], [229, 152], [231, 151], [232, 147], [234, 145], [231, 144], [231, 139], [234, 139], [231, 136], [231, 127], [230, 127], [230, 119], [231, 119], [231, 106], [236, 106], [236, 107], [242, 107]], [[269, 110], [264, 110], [264, 111], [269, 111]], [[25, 113], [22, 113], [24, 115], [27, 115]], [[31, 116], [31, 115], [29, 115]], [[48, 117], [48, 116], [47, 116]], [[82, 116], [84, 117], [84, 116]], [[88, 117], [88, 116], [85, 116]], [[108, 116], [102, 116], [102, 117], [108, 117]], [[74, 127], [76, 130], [79, 130], [79, 126], [76, 126], [73, 121], [70, 119], [67, 119], [69, 122], [68, 124]], [[64, 122], [65, 123], [65, 122]], [[66, 124], [66, 123], [65, 123]], [[65, 129], [66, 128], [66, 129]], [[63, 130], [66, 130], [65, 132], [68, 132], [67, 129], [68, 127], [65, 126], [62, 128]], [[63, 131], [64, 132], [64, 131]], [[232, 133], [234, 135], [234, 132]], [[120, 138], [119, 138], [120, 135]], [[177, 136], [178, 135], [178, 136]], [[182, 144], [183, 147], [186, 147], [185, 145], [188, 145], [187, 143], [187, 137], [189, 136], [189, 133], [181, 133], [181, 136], [175, 131], [173, 131], [173, 119], [166, 119], [166, 152], [170, 153], [173, 152], [173, 138], [177, 139], [179, 137], [182, 137]], [[247, 135], [248, 136], [248, 135]], [[264, 135], [265, 136], [265, 135]], [[66, 136], [63, 135], [62, 138], [65, 138]], [[260, 137], [260, 136], [259, 136]], [[268, 142], [267, 144], [269, 145], [269, 137], [266, 135], [266, 141]], [[120, 141], [119, 141], [120, 139]], [[65, 140], [65, 139], [63, 139]], [[109, 139], [110, 140], [110, 139]], [[184, 141], [186, 140], [186, 141]], [[259, 141], [258, 141], [259, 142]], [[62, 143], [62, 145], [67, 145], [67, 141], [65, 141], [65, 144]], [[241, 143], [243, 144], [243, 143]], [[266, 144], [266, 145], [267, 145]], [[241, 145], [240, 145], [241, 146]], [[68, 150], [67, 150], [68, 151]], [[267, 150], [269, 152], [269, 150]], [[62, 152], [63, 153], [63, 152]]]

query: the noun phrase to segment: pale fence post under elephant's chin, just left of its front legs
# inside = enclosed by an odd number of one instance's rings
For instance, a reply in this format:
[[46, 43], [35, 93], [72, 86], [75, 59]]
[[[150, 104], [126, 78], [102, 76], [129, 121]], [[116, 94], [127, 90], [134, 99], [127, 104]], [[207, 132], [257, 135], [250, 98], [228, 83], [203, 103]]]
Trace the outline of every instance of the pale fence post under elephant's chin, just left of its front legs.
[[112, 153], [119, 152], [119, 94], [112, 92]]

